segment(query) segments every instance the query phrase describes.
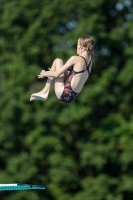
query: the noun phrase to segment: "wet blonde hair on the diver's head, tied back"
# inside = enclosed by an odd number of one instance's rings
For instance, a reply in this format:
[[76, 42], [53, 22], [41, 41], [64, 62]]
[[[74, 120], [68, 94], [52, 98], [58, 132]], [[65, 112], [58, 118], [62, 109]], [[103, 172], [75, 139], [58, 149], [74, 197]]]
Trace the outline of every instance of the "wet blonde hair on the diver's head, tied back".
[[89, 35], [83, 35], [79, 38], [79, 43], [87, 51], [88, 55], [94, 55], [94, 39]]

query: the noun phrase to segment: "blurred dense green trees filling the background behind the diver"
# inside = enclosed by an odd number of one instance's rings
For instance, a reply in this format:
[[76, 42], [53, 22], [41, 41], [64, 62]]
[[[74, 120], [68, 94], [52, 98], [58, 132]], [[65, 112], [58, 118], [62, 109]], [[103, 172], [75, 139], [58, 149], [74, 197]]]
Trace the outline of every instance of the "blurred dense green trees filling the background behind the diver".
[[[46, 186], [2, 200], [132, 200], [131, 1], [0, 1], [0, 183]], [[29, 102], [41, 69], [95, 39], [93, 70], [79, 98]]]

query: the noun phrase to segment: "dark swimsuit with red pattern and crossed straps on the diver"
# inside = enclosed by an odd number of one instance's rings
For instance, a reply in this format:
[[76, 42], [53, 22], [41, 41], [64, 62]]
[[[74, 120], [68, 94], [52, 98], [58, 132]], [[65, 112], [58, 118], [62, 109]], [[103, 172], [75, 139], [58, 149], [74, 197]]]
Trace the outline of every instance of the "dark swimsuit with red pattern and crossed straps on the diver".
[[82, 56], [80, 56], [80, 57], [85, 60], [85, 62], [86, 62], [86, 69], [82, 70], [82, 71], [79, 71], [79, 72], [75, 72], [74, 69], [73, 69], [73, 66], [70, 67], [70, 73], [69, 73], [69, 75], [67, 77], [67, 80], [65, 81], [65, 84], [64, 84], [64, 91], [63, 91], [61, 97], [59, 98], [59, 100], [63, 101], [64, 103], [71, 103], [79, 95], [79, 93], [74, 92], [73, 89], [72, 89], [72, 87], [71, 87], [71, 80], [74, 77], [74, 75], [79, 74], [79, 73], [83, 73], [85, 71], [88, 71], [88, 73], [89, 73], [89, 66], [91, 64], [91, 61], [87, 65], [86, 59], [84, 57], [82, 57]]

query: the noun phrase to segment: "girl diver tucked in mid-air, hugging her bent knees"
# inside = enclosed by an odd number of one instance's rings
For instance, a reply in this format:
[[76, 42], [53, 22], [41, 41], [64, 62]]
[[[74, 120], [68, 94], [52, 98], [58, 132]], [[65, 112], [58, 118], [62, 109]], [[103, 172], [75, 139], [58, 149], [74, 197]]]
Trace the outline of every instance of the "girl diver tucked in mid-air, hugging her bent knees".
[[[84, 35], [78, 39], [77, 54], [64, 64], [63, 60], [56, 58], [49, 71], [42, 70], [38, 78], [48, 77], [42, 91], [31, 95], [30, 101], [47, 100], [52, 83], [54, 82], [55, 94], [60, 101], [70, 103], [80, 94], [92, 68], [92, 55], [94, 40], [91, 36]], [[68, 72], [70, 68], [70, 72]]]

